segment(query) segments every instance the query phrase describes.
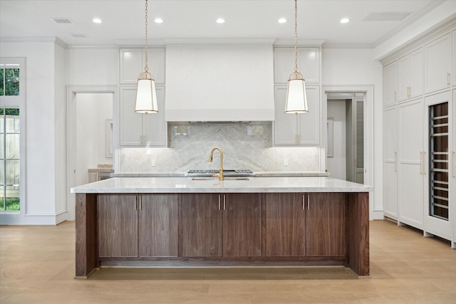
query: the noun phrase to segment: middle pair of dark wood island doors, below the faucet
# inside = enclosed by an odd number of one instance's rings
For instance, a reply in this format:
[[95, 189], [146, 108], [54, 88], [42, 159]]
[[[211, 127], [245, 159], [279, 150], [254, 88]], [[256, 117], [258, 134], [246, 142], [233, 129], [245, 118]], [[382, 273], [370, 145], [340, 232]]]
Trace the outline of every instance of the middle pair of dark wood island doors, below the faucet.
[[261, 195], [182, 194], [182, 256], [261, 256]]

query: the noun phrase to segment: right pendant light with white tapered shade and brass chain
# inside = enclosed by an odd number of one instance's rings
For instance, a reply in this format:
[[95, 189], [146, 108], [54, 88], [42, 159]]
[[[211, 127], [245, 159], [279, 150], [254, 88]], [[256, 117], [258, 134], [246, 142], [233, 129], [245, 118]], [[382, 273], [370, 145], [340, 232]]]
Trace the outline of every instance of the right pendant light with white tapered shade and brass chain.
[[294, 72], [288, 79], [285, 112], [296, 115], [309, 112], [306, 83], [302, 74], [298, 72], [298, 0], [294, 0]]

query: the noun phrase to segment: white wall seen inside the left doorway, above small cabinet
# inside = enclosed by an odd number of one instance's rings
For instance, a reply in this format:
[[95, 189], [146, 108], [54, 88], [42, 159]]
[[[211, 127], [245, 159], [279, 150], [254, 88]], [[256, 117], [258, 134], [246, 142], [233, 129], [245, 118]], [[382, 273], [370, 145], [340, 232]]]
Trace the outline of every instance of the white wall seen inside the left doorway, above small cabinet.
[[112, 117], [112, 94], [76, 95], [76, 185], [88, 183], [88, 169], [112, 164], [113, 159], [105, 157], [105, 120]]

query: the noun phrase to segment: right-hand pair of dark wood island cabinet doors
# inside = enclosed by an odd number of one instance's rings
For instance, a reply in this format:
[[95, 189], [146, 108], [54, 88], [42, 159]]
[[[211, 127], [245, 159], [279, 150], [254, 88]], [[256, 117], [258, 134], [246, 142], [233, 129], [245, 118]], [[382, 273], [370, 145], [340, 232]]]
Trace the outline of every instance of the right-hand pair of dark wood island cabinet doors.
[[266, 256], [344, 256], [341, 193], [266, 194]]

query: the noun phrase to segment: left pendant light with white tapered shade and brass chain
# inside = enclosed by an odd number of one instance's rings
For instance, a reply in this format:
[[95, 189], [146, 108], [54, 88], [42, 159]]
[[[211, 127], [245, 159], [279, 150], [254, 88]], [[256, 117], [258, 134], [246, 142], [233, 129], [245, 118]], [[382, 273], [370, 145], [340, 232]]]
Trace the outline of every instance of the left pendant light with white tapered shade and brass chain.
[[155, 79], [147, 67], [147, 0], [145, 0], [145, 67], [144, 72], [138, 77], [135, 112], [142, 114], [158, 112]]

